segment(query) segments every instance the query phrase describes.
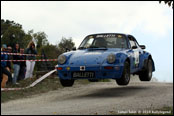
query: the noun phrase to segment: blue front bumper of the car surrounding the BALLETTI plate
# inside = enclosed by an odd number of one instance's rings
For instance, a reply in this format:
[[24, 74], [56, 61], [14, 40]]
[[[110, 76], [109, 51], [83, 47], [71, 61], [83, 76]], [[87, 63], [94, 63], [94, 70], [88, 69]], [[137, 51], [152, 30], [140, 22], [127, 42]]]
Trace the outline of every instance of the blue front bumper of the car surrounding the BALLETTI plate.
[[[83, 77], [83, 78], [73, 78], [73, 72], [82, 71], [80, 66], [71, 67], [71, 66], [58, 66], [57, 72], [58, 77], [61, 79], [117, 79], [121, 78], [123, 72], [123, 66], [117, 65], [107, 65], [107, 66], [84, 66], [87, 72], [94, 72], [95, 77]], [[106, 67], [113, 67], [112, 69], [106, 69]], [[61, 70], [60, 70], [61, 69]]]

